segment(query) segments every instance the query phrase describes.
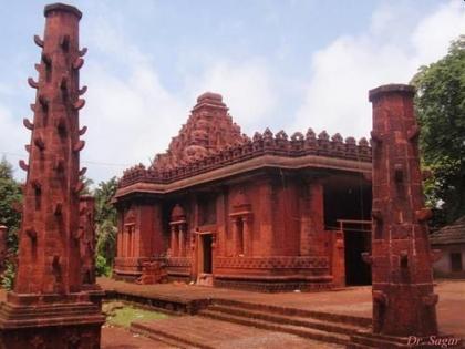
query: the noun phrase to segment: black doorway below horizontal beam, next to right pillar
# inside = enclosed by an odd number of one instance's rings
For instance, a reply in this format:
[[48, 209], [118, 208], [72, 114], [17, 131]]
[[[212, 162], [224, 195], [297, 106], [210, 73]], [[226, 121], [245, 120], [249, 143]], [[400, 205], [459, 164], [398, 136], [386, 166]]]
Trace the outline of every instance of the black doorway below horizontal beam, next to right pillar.
[[371, 266], [363, 261], [362, 253], [371, 252], [371, 234], [344, 230], [345, 285], [371, 285]]

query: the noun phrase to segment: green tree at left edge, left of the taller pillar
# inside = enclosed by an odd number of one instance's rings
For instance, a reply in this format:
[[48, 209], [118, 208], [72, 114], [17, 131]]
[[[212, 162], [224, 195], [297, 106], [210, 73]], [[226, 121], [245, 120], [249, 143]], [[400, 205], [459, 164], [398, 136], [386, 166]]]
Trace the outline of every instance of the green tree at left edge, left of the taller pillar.
[[21, 223], [21, 184], [13, 178], [11, 164], [3, 157], [0, 162], [0, 225], [8, 227], [8, 246], [12, 253], [18, 248], [17, 232]]

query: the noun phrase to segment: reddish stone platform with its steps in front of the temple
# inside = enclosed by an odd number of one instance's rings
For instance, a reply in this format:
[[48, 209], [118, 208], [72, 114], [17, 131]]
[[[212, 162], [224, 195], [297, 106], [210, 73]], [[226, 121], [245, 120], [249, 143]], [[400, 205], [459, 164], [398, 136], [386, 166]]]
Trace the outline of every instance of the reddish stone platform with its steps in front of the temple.
[[[168, 312], [196, 315], [176, 317], [169, 322], [134, 322], [132, 328], [134, 332], [154, 339], [179, 343], [176, 338], [183, 331], [178, 333], [177, 328], [190, 327], [195, 329], [194, 342], [190, 342], [190, 346], [197, 345], [192, 346], [195, 348], [207, 343], [203, 336], [209, 336], [211, 324], [225, 329], [239, 326], [238, 331], [244, 338], [255, 335], [248, 333], [242, 327], [268, 330], [268, 333], [279, 332], [290, 338], [297, 336], [299, 340], [307, 340], [307, 347], [302, 348], [343, 348], [352, 332], [371, 330], [370, 286], [322, 292], [258, 294], [185, 284], [141, 286], [107, 278], [101, 278], [99, 283], [108, 297], [162, 308]], [[465, 308], [465, 281], [438, 281], [435, 290], [440, 295], [437, 312], [441, 332], [465, 338], [462, 316], [462, 309]], [[188, 332], [185, 333], [187, 336]], [[228, 337], [225, 338], [226, 346]], [[184, 345], [190, 348], [188, 342], [184, 341]], [[215, 342], [210, 347], [218, 346]], [[296, 348], [300, 347], [296, 343]]]

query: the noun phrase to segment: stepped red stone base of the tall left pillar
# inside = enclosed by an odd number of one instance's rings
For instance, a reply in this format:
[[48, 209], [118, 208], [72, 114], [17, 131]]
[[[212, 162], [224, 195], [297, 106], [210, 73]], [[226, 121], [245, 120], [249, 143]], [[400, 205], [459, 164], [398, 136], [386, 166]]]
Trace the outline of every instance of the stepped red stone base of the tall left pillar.
[[0, 348], [100, 348], [105, 321], [100, 304], [86, 292], [69, 295], [8, 294], [0, 304]]

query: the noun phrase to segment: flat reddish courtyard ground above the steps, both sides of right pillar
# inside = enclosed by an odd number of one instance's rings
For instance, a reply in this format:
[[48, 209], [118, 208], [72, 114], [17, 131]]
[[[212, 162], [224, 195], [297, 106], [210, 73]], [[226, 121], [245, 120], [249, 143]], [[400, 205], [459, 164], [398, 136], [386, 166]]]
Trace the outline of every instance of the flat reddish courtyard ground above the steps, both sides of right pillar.
[[[136, 285], [108, 278], [99, 278], [97, 283], [105, 290], [144, 297], [223, 298], [364, 318], [371, 318], [372, 311], [371, 286], [322, 292], [259, 294], [186, 284]], [[437, 280], [434, 291], [440, 296], [436, 306], [440, 330], [465, 338], [465, 280]]]

